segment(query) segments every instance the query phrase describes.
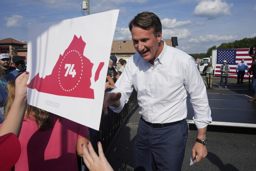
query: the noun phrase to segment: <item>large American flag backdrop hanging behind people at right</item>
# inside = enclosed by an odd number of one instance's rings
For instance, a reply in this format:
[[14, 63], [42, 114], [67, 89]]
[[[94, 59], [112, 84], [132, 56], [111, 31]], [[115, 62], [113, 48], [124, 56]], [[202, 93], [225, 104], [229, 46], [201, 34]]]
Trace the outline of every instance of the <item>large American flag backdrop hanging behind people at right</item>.
[[[249, 69], [251, 67], [252, 58], [248, 55], [249, 49], [217, 49], [216, 63], [214, 69], [214, 75], [220, 77], [220, 66], [223, 65], [223, 61], [227, 61], [227, 65], [230, 67], [229, 74], [236, 74], [235, 69], [237, 64], [241, 62], [241, 59], [245, 59]], [[255, 50], [255, 49], [254, 49]], [[247, 73], [247, 70], [245, 71]], [[237, 78], [237, 75], [229, 75], [230, 78]], [[245, 75], [244, 78], [249, 78]]]

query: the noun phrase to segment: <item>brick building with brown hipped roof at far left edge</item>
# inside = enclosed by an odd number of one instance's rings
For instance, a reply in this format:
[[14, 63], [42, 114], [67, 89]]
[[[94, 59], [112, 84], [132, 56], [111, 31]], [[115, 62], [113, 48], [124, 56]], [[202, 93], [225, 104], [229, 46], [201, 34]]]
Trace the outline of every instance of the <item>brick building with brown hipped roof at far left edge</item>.
[[7, 53], [10, 57], [25, 56], [27, 59], [27, 43], [22, 43], [12, 38], [0, 40], [0, 54]]

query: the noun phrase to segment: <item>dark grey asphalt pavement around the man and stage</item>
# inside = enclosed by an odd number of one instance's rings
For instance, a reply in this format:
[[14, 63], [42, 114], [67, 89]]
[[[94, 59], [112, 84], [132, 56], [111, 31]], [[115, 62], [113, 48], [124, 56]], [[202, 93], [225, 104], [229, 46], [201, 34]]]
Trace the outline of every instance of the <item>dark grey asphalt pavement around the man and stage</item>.
[[[206, 81], [203, 75], [202, 79]], [[219, 82], [219, 77], [213, 77], [212, 88], [207, 89], [207, 93], [246, 94], [250, 97], [253, 94], [252, 90], [248, 90], [248, 80], [244, 80], [243, 86], [235, 86], [237, 79], [228, 78], [227, 89], [218, 89]], [[106, 154], [107, 160], [116, 171], [133, 170], [133, 145], [140, 119], [139, 110], [140, 108], [131, 116], [128, 116], [127, 122], [121, 126]], [[241, 117], [243, 114], [241, 112]], [[256, 170], [256, 128], [209, 125], [206, 134], [208, 154], [200, 162], [190, 166], [191, 149], [195, 143], [196, 136], [197, 131], [195, 125], [190, 124], [182, 165], [183, 171]]]

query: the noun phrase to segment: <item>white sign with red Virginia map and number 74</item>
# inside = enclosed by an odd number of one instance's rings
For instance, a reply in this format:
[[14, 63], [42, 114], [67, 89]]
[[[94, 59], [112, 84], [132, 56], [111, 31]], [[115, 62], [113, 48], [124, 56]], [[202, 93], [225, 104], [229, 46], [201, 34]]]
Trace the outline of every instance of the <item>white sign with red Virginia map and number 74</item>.
[[29, 25], [27, 103], [99, 130], [118, 13]]

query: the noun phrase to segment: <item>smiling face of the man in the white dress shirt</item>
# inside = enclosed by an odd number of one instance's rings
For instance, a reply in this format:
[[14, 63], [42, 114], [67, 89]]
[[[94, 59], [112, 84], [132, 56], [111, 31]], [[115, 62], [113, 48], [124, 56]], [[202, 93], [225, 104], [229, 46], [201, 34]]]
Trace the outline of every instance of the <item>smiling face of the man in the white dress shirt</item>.
[[145, 61], [151, 59], [154, 61], [161, 53], [158, 44], [162, 39], [162, 33], [155, 38], [152, 28], [150, 30], [144, 30], [136, 25], [132, 26], [131, 33], [135, 50]]

